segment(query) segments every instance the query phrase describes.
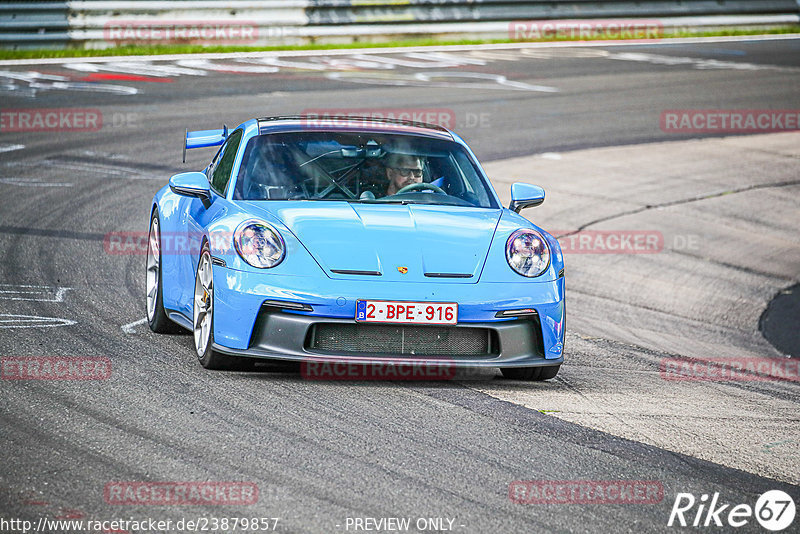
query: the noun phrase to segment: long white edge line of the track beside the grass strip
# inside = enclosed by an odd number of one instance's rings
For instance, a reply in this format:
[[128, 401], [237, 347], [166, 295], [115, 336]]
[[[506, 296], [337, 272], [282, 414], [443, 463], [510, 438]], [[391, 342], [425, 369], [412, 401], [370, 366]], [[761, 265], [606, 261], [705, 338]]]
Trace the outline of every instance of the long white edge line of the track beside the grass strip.
[[78, 58], [6, 59], [0, 66], [66, 65], [68, 63], [109, 63], [118, 61], [175, 61], [179, 59], [239, 59], [270, 57], [346, 56], [351, 54], [405, 54], [409, 52], [472, 52], [473, 50], [519, 50], [529, 48], [580, 48], [592, 46], [653, 46], [662, 44], [704, 44], [745, 41], [800, 39], [800, 33], [768, 35], [726, 35], [719, 37], [676, 37], [649, 41], [557, 41], [546, 43], [494, 43], [483, 45], [410, 46], [392, 48], [343, 48], [338, 50], [274, 50], [266, 52], [221, 52], [209, 54], [165, 54], [152, 56], [101, 56]]

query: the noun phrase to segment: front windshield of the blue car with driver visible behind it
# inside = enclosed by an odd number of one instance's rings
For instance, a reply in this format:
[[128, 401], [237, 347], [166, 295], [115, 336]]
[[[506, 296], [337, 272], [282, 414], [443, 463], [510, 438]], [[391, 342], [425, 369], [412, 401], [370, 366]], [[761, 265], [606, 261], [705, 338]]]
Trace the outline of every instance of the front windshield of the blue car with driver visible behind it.
[[461, 145], [386, 133], [253, 137], [245, 147], [234, 199], [497, 208], [488, 184]]

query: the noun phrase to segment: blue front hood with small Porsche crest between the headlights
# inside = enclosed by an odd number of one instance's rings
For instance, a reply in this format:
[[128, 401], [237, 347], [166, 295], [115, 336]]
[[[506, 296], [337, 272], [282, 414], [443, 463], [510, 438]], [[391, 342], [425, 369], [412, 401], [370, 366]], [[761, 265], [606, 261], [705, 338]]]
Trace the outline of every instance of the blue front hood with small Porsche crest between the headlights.
[[280, 219], [328, 276], [348, 280], [477, 283], [502, 213], [423, 204], [249, 204], [257, 208], [251, 212]]

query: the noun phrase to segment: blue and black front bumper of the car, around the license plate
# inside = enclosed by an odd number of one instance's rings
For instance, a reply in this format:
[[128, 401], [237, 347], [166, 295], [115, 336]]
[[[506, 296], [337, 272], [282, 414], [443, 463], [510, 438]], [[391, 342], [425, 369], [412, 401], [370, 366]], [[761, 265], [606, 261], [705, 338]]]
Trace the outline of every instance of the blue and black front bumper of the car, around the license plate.
[[[331, 280], [306, 276], [276, 276], [214, 267], [214, 350], [235, 356], [280, 360], [331, 360], [384, 363], [445, 359], [463, 367], [534, 367], [563, 361], [564, 279], [553, 282], [436, 284]], [[342, 332], [358, 327], [356, 300], [457, 302], [459, 323], [454, 335], [486, 332], [486, 350], [473, 354], [435, 354], [424, 349], [400, 351], [334, 350], [313, 341], [318, 328]], [[305, 304], [312, 311], [264, 306], [264, 301]], [[537, 315], [499, 319], [497, 312], [534, 309]], [[370, 324], [371, 326], [371, 324]], [[368, 328], [369, 326], [367, 326]], [[417, 334], [431, 327], [411, 326]], [[391, 337], [400, 325], [384, 328]], [[454, 329], [465, 329], [457, 330]], [[427, 330], [426, 332], [431, 332]], [[371, 335], [373, 332], [364, 330]], [[446, 339], [445, 339], [446, 341]], [[390, 345], [387, 345], [390, 346]], [[352, 347], [351, 347], [352, 348]], [[446, 350], [444, 351], [447, 352]], [[479, 351], [480, 352], [480, 351]]]

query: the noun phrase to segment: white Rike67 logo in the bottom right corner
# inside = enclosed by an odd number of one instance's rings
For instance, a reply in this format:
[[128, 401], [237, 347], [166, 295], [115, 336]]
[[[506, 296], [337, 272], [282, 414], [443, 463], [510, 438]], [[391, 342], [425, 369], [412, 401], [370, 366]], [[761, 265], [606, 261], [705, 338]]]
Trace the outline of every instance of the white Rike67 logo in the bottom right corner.
[[778, 532], [794, 522], [795, 504], [781, 490], [767, 491], [758, 498], [755, 507], [749, 504], [722, 504], [719, 493], [703, 494], [699, 499], [691, 493], [678, 493], [667, 526], [681, 527], [743, 527], [755, 516], [765, 529]]

